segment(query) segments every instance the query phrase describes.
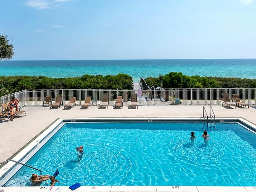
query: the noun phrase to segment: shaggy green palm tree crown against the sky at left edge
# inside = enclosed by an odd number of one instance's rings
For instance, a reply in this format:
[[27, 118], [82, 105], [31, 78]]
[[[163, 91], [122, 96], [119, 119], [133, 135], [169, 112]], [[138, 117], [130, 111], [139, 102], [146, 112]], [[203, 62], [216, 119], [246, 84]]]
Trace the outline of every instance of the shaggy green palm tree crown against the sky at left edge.
[[0, 60], [10, 60], [14, 55], [13, 45], [7, 35], [0, 34]]

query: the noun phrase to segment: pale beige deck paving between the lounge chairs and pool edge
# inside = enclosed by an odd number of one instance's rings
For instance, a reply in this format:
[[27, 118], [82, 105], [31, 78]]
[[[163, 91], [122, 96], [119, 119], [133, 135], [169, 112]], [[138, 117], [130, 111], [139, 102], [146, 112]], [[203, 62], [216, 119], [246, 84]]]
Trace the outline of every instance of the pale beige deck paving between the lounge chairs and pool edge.
[[[0, 161], [7, 160], [38, 133], [44, 130], [57, 118], [86, 118], [86, 117], [202, 117], [203, 106], [138, 106], [138, 109], [98, 109], [92, 106], [89, 109], [80, 110], [75, 106], [72, 110], [49, 109], [48, 107], [26, 106], [22, 108], [27, 116], [15, 118], [14, 121], [0, 120]], [[206, 106], [209, 115], [209, 107]], [[256, 124], [256, 107], [250, 108], [226, 108], [212, 106], [216, 117], [242, 117]]]

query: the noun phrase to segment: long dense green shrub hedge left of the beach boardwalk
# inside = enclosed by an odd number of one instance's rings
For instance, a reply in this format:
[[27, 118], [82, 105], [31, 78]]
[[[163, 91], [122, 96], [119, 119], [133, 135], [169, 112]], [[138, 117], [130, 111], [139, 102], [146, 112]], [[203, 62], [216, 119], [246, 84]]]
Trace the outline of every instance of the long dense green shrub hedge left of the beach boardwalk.
[[46, 76], [0, 76], [0, 96], [24, 89], [128, 89], [132, 77], [118, 75], [83, 75], [81, 77], [51, 78]]

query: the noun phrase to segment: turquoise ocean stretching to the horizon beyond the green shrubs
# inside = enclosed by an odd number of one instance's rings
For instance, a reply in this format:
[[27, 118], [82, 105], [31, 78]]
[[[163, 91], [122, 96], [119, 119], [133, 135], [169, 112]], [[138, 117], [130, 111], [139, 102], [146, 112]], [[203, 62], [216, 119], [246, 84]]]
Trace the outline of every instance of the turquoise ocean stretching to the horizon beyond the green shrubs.
[[0, 61], [0, 76], [76, 77], [84, 74], [129, 74], [157, 77], [169, 72], [185, 75], [256, 78], [256, 59], [171, 59], [171, 60], [22, 60]]

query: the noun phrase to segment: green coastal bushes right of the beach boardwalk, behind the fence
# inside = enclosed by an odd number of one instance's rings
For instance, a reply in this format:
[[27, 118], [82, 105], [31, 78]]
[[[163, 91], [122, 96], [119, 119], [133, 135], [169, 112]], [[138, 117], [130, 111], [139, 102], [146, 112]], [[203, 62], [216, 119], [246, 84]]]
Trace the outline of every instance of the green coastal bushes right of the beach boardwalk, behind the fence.
[[256, 88], [256, 79], [186, 76], [182, 72], [148, 77], [145, 81], [162, 88]]

